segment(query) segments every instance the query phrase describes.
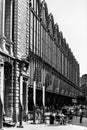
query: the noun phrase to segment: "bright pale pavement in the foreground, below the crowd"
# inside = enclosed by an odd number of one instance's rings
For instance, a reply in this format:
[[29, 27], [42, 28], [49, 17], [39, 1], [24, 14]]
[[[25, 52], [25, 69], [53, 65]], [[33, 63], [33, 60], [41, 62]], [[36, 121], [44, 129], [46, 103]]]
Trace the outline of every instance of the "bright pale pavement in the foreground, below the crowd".
[[73, 124], [67, 125], [47, 125], [47, 124], [30, 124], [29, 122], [23, 122], [23, 128], [15, 127], [3, 127], [4, 130], [87, 130], [85, 126], [78, 126]]

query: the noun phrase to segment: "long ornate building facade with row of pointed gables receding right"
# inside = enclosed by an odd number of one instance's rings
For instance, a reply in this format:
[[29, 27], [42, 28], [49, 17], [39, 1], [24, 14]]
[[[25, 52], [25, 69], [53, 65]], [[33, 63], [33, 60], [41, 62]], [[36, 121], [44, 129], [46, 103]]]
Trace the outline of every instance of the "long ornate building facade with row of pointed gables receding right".
[[44, 0], [0, 0], [0, 61], [3, 109], [14, 121], [20, 102], [23, 113], [32, 110], [34, 81], [40, 106], [43, 85], [46, 106], [81, 94], [79, 64]]

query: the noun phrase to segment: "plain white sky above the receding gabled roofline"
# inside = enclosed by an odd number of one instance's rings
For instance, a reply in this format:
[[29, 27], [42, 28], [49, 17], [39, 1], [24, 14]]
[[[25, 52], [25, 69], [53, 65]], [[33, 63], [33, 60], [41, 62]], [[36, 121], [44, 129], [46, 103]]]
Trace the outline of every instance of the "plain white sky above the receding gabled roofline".
[[80, 65], [80, 76], [87, 74], [87, 0], [45, 0], [59, 30]]

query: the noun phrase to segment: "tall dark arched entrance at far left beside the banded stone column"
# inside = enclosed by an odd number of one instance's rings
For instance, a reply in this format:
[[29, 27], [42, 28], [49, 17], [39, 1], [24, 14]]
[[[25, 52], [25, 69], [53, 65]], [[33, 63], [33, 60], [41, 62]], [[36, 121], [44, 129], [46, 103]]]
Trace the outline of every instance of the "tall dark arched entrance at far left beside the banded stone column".
[[12, 65], [4, 63], [4, 112], [6, 116], [11, 116], [13, 104], [12, 89]]

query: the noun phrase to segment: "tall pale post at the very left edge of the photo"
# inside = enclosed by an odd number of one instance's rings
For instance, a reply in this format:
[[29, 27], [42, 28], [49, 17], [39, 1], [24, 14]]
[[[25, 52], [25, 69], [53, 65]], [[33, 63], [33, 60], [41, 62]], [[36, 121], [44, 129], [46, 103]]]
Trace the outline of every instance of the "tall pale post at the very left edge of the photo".
[[4, 88], [4, 63], [0, 57], [0, 129], [3, 129], [3, 88]]

